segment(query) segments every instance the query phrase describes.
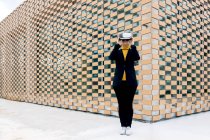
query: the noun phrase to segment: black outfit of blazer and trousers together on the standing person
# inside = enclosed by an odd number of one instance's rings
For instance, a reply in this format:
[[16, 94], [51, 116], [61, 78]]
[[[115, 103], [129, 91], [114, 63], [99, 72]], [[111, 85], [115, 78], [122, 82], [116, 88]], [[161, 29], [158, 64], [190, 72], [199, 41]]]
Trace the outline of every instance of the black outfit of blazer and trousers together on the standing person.
[[[122, 49], [119, 44], [114, 46], [109, 59], [115, 60], [116, 69], [112, 87], [118, 100], [118, 111], [121, 126], [130, 126], [133, 118], [133, 99], [138, 86], [136, 73], [134, 69], [134, 61], [140, 60], [135, 45], [131, 45], [128, 50], [126, 60], [124, 60]], [[122, 80], [124, 70], [126, 72], [126, 81]]]

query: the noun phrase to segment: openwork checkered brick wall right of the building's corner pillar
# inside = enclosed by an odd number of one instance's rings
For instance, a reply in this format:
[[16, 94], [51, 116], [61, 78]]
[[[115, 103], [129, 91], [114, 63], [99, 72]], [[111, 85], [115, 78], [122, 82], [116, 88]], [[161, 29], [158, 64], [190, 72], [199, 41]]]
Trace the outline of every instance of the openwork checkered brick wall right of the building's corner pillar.
[[210, 2], [159, 2], [160, 119], [209, 110]]

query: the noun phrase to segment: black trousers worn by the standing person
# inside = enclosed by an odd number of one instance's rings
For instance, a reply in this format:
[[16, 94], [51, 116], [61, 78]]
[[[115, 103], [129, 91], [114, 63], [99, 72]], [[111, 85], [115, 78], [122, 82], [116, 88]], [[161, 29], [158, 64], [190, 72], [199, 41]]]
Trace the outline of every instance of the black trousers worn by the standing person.
[[127, 81], [122, 81], [121, 85], [114, 87], [118, 101], [118, 112], [122, 127], [131, 127], [133, 119], [133, 99], [136, 87], [128, 86]]

